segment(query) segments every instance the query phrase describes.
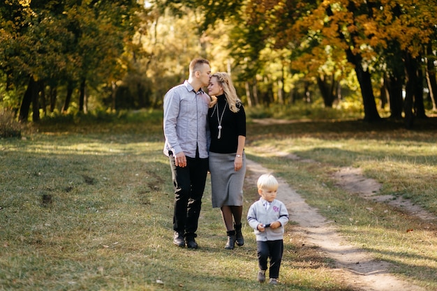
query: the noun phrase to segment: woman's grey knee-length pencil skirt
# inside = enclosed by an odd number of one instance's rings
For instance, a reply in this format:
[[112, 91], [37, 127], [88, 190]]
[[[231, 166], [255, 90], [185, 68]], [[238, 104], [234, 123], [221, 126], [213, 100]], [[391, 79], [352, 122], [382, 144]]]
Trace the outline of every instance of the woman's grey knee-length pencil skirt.
[[212, 207], [242, 206], [243, 183], [246, 174], [246, 155], [243, 152], [243, 166], [234, 170], [235, 154], [209, 153], [211, 172]]

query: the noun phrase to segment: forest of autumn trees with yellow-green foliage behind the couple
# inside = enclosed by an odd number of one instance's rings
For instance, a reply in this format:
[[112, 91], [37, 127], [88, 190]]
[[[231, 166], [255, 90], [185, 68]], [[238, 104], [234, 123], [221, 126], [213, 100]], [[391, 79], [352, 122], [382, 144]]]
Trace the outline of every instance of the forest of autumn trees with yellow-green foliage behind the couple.
[[3, 120], [160, 108], [193, 57], [231, 73], [264, 117], [304, 103], [412, 127], [437, 110], [434, 0], [0, 5]]

